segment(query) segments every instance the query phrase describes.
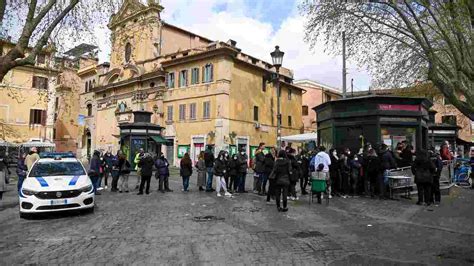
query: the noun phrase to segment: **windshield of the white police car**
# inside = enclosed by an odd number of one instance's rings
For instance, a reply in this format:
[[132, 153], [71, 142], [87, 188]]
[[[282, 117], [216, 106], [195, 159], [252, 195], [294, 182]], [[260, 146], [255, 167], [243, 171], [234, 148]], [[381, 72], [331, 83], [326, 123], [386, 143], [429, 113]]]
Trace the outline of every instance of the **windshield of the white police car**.
[[31, 169], [29, 177], [60, 175], [85, 175], [85, 172], [79, 162], [38, 162]]

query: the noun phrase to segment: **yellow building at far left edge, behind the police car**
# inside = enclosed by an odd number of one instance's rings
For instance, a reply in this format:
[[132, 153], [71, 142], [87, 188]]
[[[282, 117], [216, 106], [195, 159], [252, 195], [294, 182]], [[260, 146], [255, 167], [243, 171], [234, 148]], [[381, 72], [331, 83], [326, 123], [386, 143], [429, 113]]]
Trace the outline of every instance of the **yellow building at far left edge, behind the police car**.
[[[0, 54], [14, 43], [0, 40]], [[22, 144], [53, 143], [54, 99], [58, 71], [54, 50], [45, 49], [34, 65], [16, 67], [0, 81], [0, 139]]]

